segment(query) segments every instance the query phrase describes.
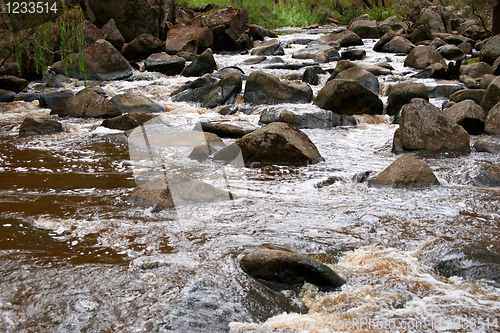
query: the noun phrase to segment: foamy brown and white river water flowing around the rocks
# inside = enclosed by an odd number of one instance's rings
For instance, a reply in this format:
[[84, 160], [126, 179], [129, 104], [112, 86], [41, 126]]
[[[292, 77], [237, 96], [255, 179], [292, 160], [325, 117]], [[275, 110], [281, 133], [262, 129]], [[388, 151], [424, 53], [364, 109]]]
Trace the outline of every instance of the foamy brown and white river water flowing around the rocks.
[[[303, 30], [281, 40], [316, 39], [323, 32]], [[408, 78], [404, 57], [377, 54], [371, 51], [375, 41], [365, 42], [365, 62], [391, 61], [395, 68], [379, 78], [382, 89]], [[290, 55], [304, 46], [291, 46], [283, 58], [301, 62]], [[265, 66], [244, 65], [246, 58], [216, 55], [219, 68], [240, 66], [249, 74]], [[187, 79], [150, 77], [102, 87], [111, 96], [141, 92], [164, 105], [165, 119], [173, 122], [258, 122], [258, 115], [221, 117], [217, 109], [174, 103], [169, 94]], [[321, 78], [324, 84], [327, 75]], [[315, 93], [321, 87], [313, 87]], [[32, 83], [30, 89], [42, 88]], [[439, 106], [442, 101], [432, 99]], [[18, 137], [25, 116], [49, 110], [38, 102], [0, 107], [1, 331], [500, 330], [500, 289], [439, 276], [433, 259], [426, 259], [435, 249], [455, 246], [500, 254], [500, 191], [470, 182], [484, 163], [500, 163], [498, 155], [425, 158], [442, 186], [369, 188], [353, 178], [380, 172], [397, 158], [391, 153], [397, 125], [383, 116], [358, 117], [357, 127], [304, 130], [325, 162], [243, 169], [230, 206], [193, 207], [179, 219], [173, 211], [123, 200], [135, 186], [123, 133], [99, 127], [100, 120], [62, 119], [61, 134]], [[500, 143], [492, 136], [471, 137], [476, 140]], [[329, 177], [339, 181], [317, 186]], [[308, 284], [300, 291], [270, 290], [239, 266], [242, 255], [262, 247], [310, 254], [347, 283], [330, 293]]]

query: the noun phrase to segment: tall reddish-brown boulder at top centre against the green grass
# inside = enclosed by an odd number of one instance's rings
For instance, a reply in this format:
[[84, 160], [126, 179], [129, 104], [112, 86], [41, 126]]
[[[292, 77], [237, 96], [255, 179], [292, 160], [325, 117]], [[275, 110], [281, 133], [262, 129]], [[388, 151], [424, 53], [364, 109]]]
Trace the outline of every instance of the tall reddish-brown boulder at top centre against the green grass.
[[203, 16], [199, 26], [208, 27], [213, 34], [214, 51], [237, 51], [252, 47], [248, 29], [248, 14], [239, 8], [227, 7]]

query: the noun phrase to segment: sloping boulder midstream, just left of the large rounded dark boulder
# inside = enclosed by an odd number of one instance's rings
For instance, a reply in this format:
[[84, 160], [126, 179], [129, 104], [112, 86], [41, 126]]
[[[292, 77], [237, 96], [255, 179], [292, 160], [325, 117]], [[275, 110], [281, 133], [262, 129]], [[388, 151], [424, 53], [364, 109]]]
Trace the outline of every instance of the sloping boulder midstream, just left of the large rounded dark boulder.
[[309, 103], [311, 87], [303, 82], [280, 81], [263, 71], [252, 72], [247, 79], [243, 99], [252, 104]]

